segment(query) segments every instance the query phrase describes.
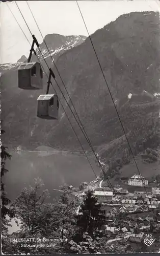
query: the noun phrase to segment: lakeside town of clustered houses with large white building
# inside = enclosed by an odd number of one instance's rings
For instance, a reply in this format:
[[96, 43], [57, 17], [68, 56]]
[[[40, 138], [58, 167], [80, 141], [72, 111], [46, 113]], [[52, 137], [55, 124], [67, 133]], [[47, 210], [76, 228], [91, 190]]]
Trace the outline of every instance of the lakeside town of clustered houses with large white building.
[[[128, 179], [128, 190], [119, 184], [111, 187], [101, 187], [102, 180], [97, 177], [90, 183], [84, 182], [75, 191], [72, 185], [69, 188], [78, 201], [77, 214], [83, 202], [83, 196], [90, 190], [97, 202], [101, 204], [101, 214], [105, 215], [105, 225], [97, 229], [98, 236], [108, 237], [108, 251], [112, 251], [117, 243], [128, 241], [142, 243], [146, 234], [157, 237], [160, 232], [160, 187], [154, 182], [148, 186], [148, 180], [140, 175]], [[145, 190], [145, 187], [147, 191]], [[157, 239], [156, 239], [157, 240]], [[158, 242], [158, 241], [157, 241]], [[155, 246], [155, 245], [154, 245]], [[125, 246], [120, 249], [125, 251]]]

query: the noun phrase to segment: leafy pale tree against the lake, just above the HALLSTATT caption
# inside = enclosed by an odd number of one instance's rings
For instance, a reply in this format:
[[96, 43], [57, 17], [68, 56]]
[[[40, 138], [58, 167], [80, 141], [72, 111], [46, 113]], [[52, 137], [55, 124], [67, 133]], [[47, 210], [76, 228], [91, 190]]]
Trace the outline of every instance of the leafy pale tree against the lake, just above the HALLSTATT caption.
[[55, 212], [54, 205], [45, 203], [49, 193], [47, 189], [42, 191], [43, 186], [40, 177], [35, 179], [35, 186], [23, 188], [12, 204], [15, 217], [20, 221], [20, 228], [28, 230], [30, 236], [39, 232], [46, 234], [51, 216]]

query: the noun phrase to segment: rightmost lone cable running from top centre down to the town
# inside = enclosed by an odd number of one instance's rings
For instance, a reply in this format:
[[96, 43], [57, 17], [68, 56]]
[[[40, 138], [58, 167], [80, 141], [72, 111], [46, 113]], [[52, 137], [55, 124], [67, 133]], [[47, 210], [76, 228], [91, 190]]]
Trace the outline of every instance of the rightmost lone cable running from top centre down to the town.
[[[93, 42], [92, 42], [91, 36], [90, 36], [90, 34], [89, 34], [89, 31], [88, 31], [87, 25], [86, 25], [86, 23], [85, 23], [85, 19], [84, 19], [84, 17], [83, 17], [82, 11], [81, 11], [81, 9], [80, 9], [80, 7], [79, 7], [79, 5], [78, 5], [78, 2], [77, 2], [77, 1], [76, 1], [76, 4], [77, 4], [77, 6], [78, 6], [79, 12], [80, 12], [81, 17], [82, 17], [82, 19], [83, 19], [84, 25], [85, 25], [85, 27], [86, 27], [86, 30], [87, 30], [88, 36], [89, 36], [89, 38], [90, 38], [90, 41], [91, 41], [91, 44], [92, 44], [92, 47], [93, 47], [94, 53], [95, 53], [95, 55], [96, 55], [96, 58], [97, 58], [97, 61], [98, 61], [98, 64], [99, 64], [100, 70], [101, 70], [101, 72], [102, 72], [102, 75], [103, 75], [104, 81], [105, 81], [105, 83], [106, 83], [106, 86], [108, 87], [108, 90], [109, 90], [109, 93], [110, 93], [111, 99], [112, 99], [112, 101], [113, 101], [113, 104], [114, 104], [114, 107], [115, 107], [115, 110], [116, 110], [116, 113], [117, 113], [118, 119], [119, 119], [120, 124], [121, 124], [121, 126], [122, 126], [122, 130], [123, 130], [123, 132], [124, 132], [124, 135], [125, 135], [126, 141], [127, 141], [127, 143], [128, 143], [128, 146], [129, 146], [129, 149], [130, 149], [131, 155], [132, 155], [132, 157], [133, 157], [133, 159], [134, 159], [135, 165], [136, 165], [136, 167], [137, 167], [137, 170], [138, 170], [139, 175], [140, 175], [140, 177], [141, 177], [141, 180], [142, 180], [143, 186], [144, 186], [144, 188], [145, 188], [145, 185], [144, 185], [144, 179], [142, 178], [142, 176], [141, 176], [141, 174], [140, 174], [140, 170], [139, 170], [138, 164], [137, 164], [137, 162], [136, 162], [136, 159], [135, 159], [134, 153], [132, 152], [132, 149], [131, 149], [131, 146], [130, 146], [130, 144], [129, 144], [129, 141], [128, 141], [128, 138], [127, 138], [127, 135], [126, 135], [125, 130], [124, 130], [124, 126], [123, 126], [123, 124], [122, 124], [121, 118], [120, 118], [119, 113], [118, 113], [118, 110], [117, 110], [117, 108], [116, 108], [116, 105], [115, 105], [115, 102], [114, 102], [114, 99], [113, 99], [112, 93], [111, 93], [111, 91], [110, 91], [110, 88], [109, 88], [108, 82], [106, 81], [106, 78], [105, 78], [104, 72], [103, 72], [103, 70], [102, 70], [102, 67], [101, 67], [100, 61], [99, 61], [99, 59], [98, 59], [98, 56], [97, 56], [97, 53], [96, 53], [95, 47], [94, 47], [94, 45], [93, 45]], [[145, 188], [145, 191], [146, 191], [146, 188]], [[147, 191], [146, 191], [146, 195], [147, 195], [147, 197], [148, 197]], [[149, 200], [149, 202], [150, 202], [149, 197], [148, 197], [148, 200]]]

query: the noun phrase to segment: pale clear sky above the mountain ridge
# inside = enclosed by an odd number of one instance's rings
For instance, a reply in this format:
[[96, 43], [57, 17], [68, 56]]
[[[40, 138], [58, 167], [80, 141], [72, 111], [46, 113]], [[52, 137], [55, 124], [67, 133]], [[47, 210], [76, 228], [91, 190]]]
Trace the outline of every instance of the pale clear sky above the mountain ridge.
[[[47, 34], [88, 36], [81, 14], [75, 1], [28, 1], [43, 37]], [[32, 44], [32, 36], [15, 2], [1, 3], [1, 63], [15, 63], [22, 56], [29, 56], [31, 46], [25, 38], [10, 9], [18, 20], [24, 34]], [[159, 11], [158, 0], [134, 1], [78, 1], [90, 34], [116, 20], [124, 13], [136, 11]], [[26, 23], [39, 44], [40, 32], [25, 1], [17, 1]]]

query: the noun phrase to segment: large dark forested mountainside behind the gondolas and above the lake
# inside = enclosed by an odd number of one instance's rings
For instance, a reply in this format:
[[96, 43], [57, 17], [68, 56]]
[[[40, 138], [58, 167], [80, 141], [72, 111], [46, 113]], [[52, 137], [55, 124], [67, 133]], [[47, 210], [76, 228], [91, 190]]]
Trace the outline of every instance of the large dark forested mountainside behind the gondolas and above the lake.
[[[159, 31], [158, 12], [133, 12], [118, 17], [115, 22], [91, 35], [121, 122], [135, 154], [141, 151], [142, 147], [156, 147], [159, 143], [159, 98], [155, 96], [160, 93]], [[48, 36], [46, 40], [50, 47], [54, 39]], [[58, 46], [56, 40], [54, 45]], [[42, 43], [41, 48], [43, 47], [45, 46]], [[128, 144], [90, 38], [84, 40], [83, 44], [64, 51], [57, 58], [54, 55], [54, 58], [96, 152], [100, 152], [102, 159], [122, 157], [125, 150], [128, 150]], [[48, 56], [46, 60], [51, 61]], [[70, 104], [61, 79], [54, 66], [52, 68]], [[36, 101], [41, 92], [18, 89], [16, 76], [14, 70], [2, 75], [5, 142], [25, 148], [46, 145], [63, 150], [80, 150], [81, 147], [63, 109], [60, 107], [58, 121], [38, 119]], [[47, 79], [44, 77], [44, 85], [46, 82]], [[89, 150], [86, 139], [59, 89], [55, 83], [53, 84], [79, 139], [84, 148]]]

